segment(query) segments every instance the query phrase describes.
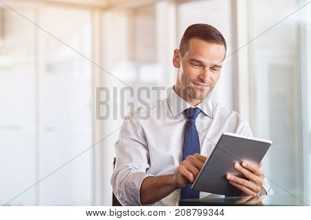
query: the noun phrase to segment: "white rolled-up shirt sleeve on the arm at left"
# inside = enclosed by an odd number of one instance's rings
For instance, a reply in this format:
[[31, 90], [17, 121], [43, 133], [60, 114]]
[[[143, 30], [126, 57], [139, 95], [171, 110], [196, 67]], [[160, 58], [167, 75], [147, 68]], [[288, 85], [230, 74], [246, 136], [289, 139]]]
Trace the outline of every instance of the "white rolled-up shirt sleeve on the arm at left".
[[115, 143], [115, 170], [111, 185], [122, 205], [142, 205], [140, 186], [149, 169], [149, 149], [142, 127], [131, 113], [126, 116]]

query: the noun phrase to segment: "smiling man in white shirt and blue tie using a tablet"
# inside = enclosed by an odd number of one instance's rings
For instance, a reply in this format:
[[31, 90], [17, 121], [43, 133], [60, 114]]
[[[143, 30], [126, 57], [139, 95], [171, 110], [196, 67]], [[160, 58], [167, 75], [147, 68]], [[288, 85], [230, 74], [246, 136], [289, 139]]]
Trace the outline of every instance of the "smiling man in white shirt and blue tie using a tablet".
[[[225, 39], [216, 28], [189, 26], [174, 51], [178, 74], [168, 98], [126, 116], [115, 143], [111, 178], [122, 205], [178, 205], [180, 198], [223, 197], [190, 186], [225, 131], [252, 136], [238, 113], [210, 99], [226, 52]], [[230, 174], [226, 178], [243, 195], [273, 194], [261, 166], [236, 163], [247, 180]]]

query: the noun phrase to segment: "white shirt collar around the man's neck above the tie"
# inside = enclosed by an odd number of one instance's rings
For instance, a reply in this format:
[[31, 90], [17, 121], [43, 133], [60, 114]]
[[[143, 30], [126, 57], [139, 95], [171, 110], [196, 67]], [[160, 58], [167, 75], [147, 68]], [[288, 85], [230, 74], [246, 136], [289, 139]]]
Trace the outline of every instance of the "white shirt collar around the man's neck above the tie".
[[[178, 116], [178, 114], [185, 111], [185, 109], [189, 109], [192, 107], [191, 104], [189, 104], [179, 95], [177, 95], [176, 91], [174, 90], [174, 86], [169, 92], [169, 95], [167, 97], [167, 103], [169, 104], [169, 108], [171, 109], [171, 114], [173, 115], [173, 117]], [[196, 105], [196, 107], [201, 109], [206, 116], [209, 116], [209, 118], [213, 118], [213, 104], [211, 103], [211, 92], [209, 93], [209, 95], [207, 95], [205, 100]]]

